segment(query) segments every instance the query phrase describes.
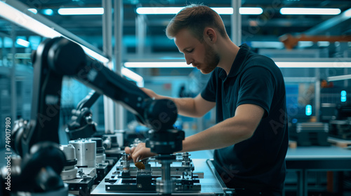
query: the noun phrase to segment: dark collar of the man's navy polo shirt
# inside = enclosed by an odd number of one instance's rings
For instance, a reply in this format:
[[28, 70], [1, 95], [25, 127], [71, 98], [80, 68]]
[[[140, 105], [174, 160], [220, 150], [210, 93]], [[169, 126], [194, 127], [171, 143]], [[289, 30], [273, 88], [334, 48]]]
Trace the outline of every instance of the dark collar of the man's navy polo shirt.
[[241, 71], [242, 69], [242, 64], [244, 64], [246, 56], [250, 52], [250, 47], [246, 43], [242, 44], [239, 46], [239, 51], [237, 53], [237, 57], [235, 57], [234, 62], [232, 64], [232, 68], [230, 69], [230, 72], [227, 76], [227, 73], [225, 72], [224, 69], [220, 69], [219, 77], [222, 80], [225, 80], [226, 78], [232, 78], [234, 76], [237, 76], [237, 74]]

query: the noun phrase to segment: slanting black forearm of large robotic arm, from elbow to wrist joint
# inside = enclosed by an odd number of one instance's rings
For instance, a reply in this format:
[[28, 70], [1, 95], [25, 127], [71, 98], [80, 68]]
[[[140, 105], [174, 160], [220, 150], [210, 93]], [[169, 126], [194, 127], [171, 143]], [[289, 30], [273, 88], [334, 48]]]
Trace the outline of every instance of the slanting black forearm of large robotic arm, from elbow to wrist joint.
[[[48, 64], [57, 73], [74, 76], [84, 85], [105, 94], [137, 116], [140, 123], [154, 130], [167, 130], [176, 122], [176, 105], [170, 100], [152, 100], [143, 90], [117, 75], [101, 62], [84, 54], [84, 50], [65, 38], [54, 38]], [[161, 111], [154, 110], [157, 108]]]

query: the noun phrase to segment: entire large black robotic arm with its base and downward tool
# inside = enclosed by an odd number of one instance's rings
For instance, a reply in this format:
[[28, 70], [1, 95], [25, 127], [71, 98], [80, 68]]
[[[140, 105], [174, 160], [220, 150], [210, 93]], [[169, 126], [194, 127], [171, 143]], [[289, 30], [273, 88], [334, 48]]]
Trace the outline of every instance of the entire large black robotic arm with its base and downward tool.
[[[136, 85], [88, 57], [77, 43], [66, 38], [43, 41], [32, 56], [32, 62], [31, 119], [16, 123], [12, 132], [11, 147], [20, 158], [11, 162], [11, 166], [18, 171], [11, 174], [11, 192], [1, 190], [2, 195], [68, 194], [68, 188], [60, 178], [66, 157], [58, 146], [63, 76], [74, 77], [99, 94], [110, 97], [151, 129], [147, 146], [159, 154], [161, 164], [165, 165], [159, 190], [171, 193], [169, 165], [174, 158], [170, 154], [183, 148], [184, 139], [183, 131], [173, 129], [178, 115], [176, 104], [168, 99], [151, 99]], [[5, 178], [6, 173], [1, 172], [1, 183]]]

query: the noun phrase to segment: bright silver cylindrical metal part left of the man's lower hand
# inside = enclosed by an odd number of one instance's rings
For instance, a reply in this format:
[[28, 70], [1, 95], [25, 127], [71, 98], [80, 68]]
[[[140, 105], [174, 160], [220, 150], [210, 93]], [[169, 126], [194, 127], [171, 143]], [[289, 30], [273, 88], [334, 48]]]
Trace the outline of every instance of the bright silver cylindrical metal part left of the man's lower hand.
[[69, 141], [76, 151], [77, 167], [95, 167], [96, 165], [96, 142], [87, 139]]

